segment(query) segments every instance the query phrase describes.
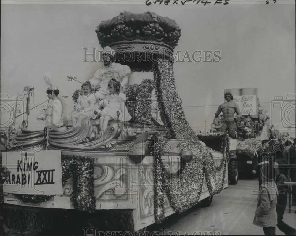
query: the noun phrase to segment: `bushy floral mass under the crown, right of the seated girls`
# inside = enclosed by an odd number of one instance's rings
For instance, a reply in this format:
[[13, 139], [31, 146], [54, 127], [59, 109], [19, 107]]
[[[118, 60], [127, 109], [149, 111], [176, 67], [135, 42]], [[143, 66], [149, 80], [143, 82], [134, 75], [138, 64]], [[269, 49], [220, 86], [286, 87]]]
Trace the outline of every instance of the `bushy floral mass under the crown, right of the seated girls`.
[[151, 79], [144, 79], [141, 84], [132, 84], [126, 87], [126, 105], [131, 107], [134, 119], [142, 123], [151, 123], [151, 93], [154, 83]]

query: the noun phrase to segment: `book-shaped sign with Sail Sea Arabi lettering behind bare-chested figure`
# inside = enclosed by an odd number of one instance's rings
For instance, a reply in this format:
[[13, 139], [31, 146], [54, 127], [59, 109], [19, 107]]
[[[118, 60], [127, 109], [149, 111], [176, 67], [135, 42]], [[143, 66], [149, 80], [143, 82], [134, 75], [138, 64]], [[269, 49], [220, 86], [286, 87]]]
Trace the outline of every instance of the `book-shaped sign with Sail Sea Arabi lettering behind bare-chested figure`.
[[224, 93], [227, 91], [231, 92], [233, 101], [239, 105], [242, 115], [257, 118], [257, 88], [225, 89]]

